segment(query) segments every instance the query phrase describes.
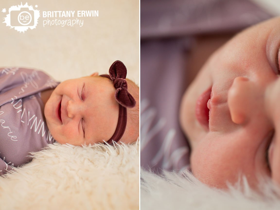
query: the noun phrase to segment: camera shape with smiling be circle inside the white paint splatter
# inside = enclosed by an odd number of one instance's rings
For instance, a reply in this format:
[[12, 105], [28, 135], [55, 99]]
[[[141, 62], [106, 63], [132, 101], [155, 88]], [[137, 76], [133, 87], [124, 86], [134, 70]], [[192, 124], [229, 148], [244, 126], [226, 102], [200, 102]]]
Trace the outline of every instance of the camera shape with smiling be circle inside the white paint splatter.
[[34, 11], [28, 8], [21, 8], [19, 11], [10, 11], [11, 26], [33, 26]]

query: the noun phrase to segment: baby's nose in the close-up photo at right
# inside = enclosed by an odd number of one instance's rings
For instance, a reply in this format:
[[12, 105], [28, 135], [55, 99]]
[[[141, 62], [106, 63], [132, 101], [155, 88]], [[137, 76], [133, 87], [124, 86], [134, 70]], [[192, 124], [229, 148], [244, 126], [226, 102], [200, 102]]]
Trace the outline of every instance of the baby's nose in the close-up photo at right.
[[[256, 87], [246, 77], [236, 77], [228, 90], [228, 107], [232, 122], [245, 123], [258, 103]], [[255, 110], [256, 111], [256, 110]]]

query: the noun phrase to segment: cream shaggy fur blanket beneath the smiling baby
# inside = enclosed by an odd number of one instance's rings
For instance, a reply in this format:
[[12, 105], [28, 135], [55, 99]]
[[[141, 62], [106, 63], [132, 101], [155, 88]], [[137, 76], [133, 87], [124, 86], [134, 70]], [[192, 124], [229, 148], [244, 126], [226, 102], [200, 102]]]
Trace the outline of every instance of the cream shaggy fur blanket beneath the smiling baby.
[[139, 142], [55, 143], [0, 178], [0, 209], [139, 209]]

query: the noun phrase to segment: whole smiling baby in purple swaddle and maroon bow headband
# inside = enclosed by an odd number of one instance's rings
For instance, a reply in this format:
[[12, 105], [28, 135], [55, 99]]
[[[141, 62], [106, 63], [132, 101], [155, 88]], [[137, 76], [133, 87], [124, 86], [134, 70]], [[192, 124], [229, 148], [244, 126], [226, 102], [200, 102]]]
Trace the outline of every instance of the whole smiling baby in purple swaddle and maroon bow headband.
[[0, 69], [0, 174], [30, 161], [47, 144], [135, 142], [139, 88], [120, 61], [109, 75], [62, 83], [42, 71]]

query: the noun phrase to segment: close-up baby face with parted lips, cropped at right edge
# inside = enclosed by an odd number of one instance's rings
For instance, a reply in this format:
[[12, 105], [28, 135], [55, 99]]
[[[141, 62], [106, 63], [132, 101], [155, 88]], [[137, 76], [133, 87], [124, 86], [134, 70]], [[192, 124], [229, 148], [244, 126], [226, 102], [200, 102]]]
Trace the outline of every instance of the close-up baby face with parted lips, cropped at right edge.
[[237, 34], [182, 98], [192, 171], [209, 186], [224, 188], [240, 174], [253, 187], [263, 176], [280, 185], [279, 23], [274, 18]]

